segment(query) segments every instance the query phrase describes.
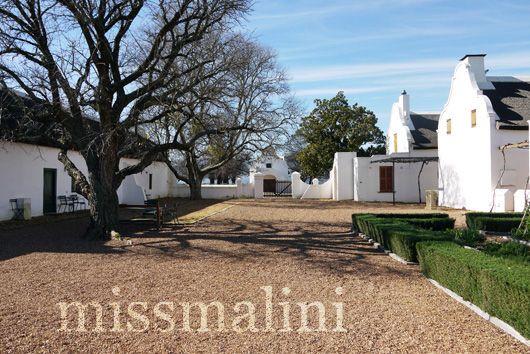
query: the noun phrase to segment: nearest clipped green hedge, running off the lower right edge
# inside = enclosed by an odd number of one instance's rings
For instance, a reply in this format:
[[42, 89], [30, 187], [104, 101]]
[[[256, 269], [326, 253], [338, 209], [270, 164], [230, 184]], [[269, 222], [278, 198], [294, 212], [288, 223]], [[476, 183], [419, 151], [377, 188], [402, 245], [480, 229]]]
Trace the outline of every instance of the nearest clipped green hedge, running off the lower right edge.
[[452, 242], [420, 242], [425, 276], [471, 301], [530, 338], [530, 267]]

